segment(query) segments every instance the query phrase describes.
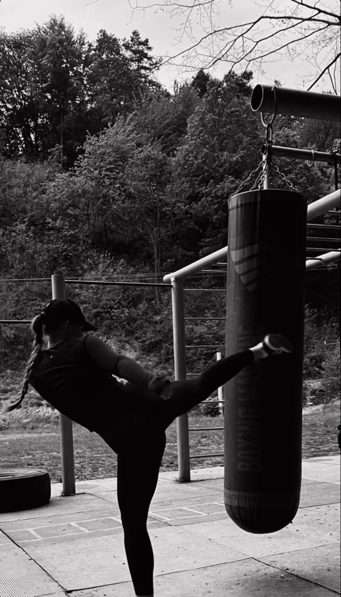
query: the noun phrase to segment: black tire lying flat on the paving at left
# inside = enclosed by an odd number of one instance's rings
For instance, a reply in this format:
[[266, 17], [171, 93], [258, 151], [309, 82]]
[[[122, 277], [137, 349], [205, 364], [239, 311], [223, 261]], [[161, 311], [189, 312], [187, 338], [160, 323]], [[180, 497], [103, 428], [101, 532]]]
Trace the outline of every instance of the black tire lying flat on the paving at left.
[[0, 469], [0, 512], [44, 506], [50, 497], [51, 480], [46, 470]]

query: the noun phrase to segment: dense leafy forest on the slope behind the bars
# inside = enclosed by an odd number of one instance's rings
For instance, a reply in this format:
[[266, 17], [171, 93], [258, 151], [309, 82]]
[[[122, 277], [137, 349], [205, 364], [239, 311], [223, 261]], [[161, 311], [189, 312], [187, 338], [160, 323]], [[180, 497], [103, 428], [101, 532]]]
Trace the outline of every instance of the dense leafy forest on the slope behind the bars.
[[[90, 43], [55, 16], [33, 30], [0, 30], [0, 319], [36, 315], [51, 299], [52, 273], [162, 282], [227, 245], [228, 198], [252, 180], [265, 142], [249, 105], [252, 72], [218, 80], [198, 70], [170, 92], [154, 76], [159, 64], [137, 30], [129, 39], [100, 30]], [[340, 152], [332, 122], [277, 115], [273, 140]], [[333, 165], [283, 158], [275, 165], [272, 185], [294, 187], [308, 203], [335, 189]], [[340, 219], [325, 214], [314, 223]], [[318, 243], [330, 234], [320, 232]], [[188, 283], [223, 290], [225, 278], [220, 266]], [[338, 281], [335, 265], [307, 273], [309, 378], [323, 375], [323, 341], [337, 342]], [[116, 349], [172, 372], [168, 289], [70, 285], [67, 296]], [[224, 293], [190, 294], [186, 309], [224, 316]], [[187, 340], [224, 344], [224, 325], [192, 322]], [[0, 325], [0, 367], [21, 367], [29, 342], [27, 326]], [[212, 350], [190, 355], [189, 369], [207, 358]]]

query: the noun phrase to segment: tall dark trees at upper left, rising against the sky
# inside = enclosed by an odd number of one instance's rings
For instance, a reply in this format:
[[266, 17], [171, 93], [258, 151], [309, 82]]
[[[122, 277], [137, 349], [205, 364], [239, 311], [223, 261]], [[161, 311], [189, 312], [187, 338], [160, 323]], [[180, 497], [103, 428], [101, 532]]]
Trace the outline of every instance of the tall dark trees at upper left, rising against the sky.
[[86, 98], [87, 52], [84, 34], [75, 36], [63, 17], [32, 31], [0, 32], [4, 155], [47, 159], [57, 146], [58, 162], [73, 164], [86, 130], [97, 130]]

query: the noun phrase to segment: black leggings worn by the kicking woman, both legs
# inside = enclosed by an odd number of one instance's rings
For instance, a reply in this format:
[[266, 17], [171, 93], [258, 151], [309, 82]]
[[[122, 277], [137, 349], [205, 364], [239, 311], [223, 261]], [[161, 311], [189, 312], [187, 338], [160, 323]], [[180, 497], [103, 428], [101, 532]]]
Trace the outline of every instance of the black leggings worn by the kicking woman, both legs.
[[117, 500], [126, 557], [137, 595], [153, 594], [154, 556], [147, 518], [165, 450], [165, 430], [176, 417], [208, 398], [252, 362], [250, 350], [221, 359], [199, 377], [173, 381], [172, 396], [167, 400], [126, 384], [122, 414], [110, 429], [98, 431], [117, 453]]

